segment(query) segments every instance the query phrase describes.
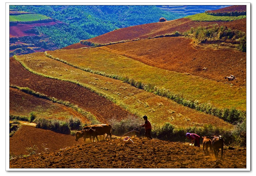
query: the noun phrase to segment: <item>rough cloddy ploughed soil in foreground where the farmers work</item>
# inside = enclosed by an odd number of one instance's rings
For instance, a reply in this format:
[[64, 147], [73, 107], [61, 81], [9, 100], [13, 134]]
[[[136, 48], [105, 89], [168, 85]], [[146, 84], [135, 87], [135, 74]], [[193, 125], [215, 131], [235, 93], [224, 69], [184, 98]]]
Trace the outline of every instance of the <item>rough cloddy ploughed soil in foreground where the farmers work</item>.
[[246, 149], [224, 150], [223, 160], [187, 143], [158, 139], [87, 143], [10, 160], [10, 168], [246, 168]]

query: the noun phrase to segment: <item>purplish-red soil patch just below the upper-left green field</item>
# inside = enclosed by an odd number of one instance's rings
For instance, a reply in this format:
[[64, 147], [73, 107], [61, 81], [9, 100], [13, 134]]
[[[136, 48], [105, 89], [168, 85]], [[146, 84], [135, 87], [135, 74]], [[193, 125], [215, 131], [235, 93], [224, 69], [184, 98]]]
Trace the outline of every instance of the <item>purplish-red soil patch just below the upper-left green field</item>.
[[35, 36], [35, 33], [27, 33], [24, 32], [30, 28], [35, 26], [48, 26], [55, 25], [56, 23], [60, 23], [60, 21], [52, 21], [49, 23], [33, 23], [33, 24], [18, 24], [15, 26], [10, 26], [10, 37], [22, 37], [22, 36]]

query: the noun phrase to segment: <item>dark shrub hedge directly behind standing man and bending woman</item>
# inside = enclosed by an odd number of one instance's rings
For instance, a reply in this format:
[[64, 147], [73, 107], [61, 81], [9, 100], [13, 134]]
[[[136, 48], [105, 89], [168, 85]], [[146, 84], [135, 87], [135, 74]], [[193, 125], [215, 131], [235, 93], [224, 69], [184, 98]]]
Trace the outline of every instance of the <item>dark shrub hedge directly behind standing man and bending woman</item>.
[[[121, 121], [110, 120], [112, 125], [112, 133], [114, 135], [124, 135], [129, 131], [136, 130], [140, 132], [140, 136], [144, 136], [145, 129], [140, 128], [140, 124], [143, 123], [143, 120], [140, 118], [126, 118]], [[204, 126], [193, 126], [193, 127], [177, 127], [166, 122], [162, 126], [156, 126], [152, 124], [152, 137], [162, 140], [169, 141], [187, 141], [186, 133], [195, 133], [199, 136], [213, 136], [221, 135], [226, 145], [241, 145], [246, 146], [246, 120], [235, 125], [234, 129], [225, 129], [214, 127], [211, 124]], [[202, 140], [202, 139], [201, 139]]]

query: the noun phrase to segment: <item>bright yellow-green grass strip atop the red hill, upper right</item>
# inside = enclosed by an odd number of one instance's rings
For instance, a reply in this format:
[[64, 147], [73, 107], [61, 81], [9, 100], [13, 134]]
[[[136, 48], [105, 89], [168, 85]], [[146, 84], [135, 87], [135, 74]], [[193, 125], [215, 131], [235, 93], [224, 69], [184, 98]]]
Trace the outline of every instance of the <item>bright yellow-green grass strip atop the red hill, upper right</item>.
[[193, 21], [234, 21], [234, 20], [246, 18], [246, 15], [240, 15], [240, 16], [213, 16], [213, 15], [207, 15], [206, 13], [200, 13], [200, 14], [186, 16], [184, 18], [189, 18]]

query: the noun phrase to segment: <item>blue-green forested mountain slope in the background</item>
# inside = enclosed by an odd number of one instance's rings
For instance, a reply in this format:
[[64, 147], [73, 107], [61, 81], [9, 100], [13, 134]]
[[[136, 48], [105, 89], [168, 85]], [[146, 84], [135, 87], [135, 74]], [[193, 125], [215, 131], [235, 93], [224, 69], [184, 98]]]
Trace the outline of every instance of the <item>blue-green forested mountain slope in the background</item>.
[[41, 26], [37, 29], [50, 38], [60, 48], [81, 39], [89, 39], [114, 29], [153, 23], [165, 17], [173, 20], [186, 16], [184, 13], [163, 11], [156, 6], [128, 5], [12, 5], [11, 9], [46, 15], [67, 24], [57, 26]]

